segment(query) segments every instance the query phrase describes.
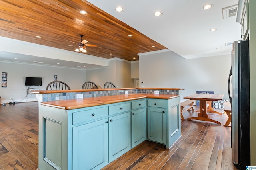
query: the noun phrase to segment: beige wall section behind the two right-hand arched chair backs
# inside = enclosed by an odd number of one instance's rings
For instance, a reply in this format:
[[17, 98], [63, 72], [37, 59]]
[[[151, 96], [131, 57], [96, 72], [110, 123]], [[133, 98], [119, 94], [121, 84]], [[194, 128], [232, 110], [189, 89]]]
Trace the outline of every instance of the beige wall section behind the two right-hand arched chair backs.
[[134, 87], [131, 78], [131, 62], [122, 59], [111, 59], [108, 68], [86, 70], [86, 81], [92, 81], [104, 88], [106, 82], [112, 82], [118, 88]]

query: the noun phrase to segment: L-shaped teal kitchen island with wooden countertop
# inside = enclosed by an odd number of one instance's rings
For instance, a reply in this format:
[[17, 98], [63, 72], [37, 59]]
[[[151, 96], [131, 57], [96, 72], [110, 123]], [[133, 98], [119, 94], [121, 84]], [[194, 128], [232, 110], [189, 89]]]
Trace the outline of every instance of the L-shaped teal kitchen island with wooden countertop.
[[32, 92], [40, 101], [38, 169], [98, 170], [145, 140], [170, 148], [180, 137], [180, 95], [129, 90], [51, 101], [43, 94], [56, 91]]

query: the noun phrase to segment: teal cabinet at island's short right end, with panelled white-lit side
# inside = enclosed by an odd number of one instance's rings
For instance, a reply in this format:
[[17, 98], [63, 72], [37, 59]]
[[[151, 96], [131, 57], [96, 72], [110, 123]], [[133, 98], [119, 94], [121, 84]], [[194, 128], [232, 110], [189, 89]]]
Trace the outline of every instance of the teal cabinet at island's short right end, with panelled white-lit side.
[[181, 136], [179, 113], [180, 97], [147, 99], [147, 139], [170, 148]]

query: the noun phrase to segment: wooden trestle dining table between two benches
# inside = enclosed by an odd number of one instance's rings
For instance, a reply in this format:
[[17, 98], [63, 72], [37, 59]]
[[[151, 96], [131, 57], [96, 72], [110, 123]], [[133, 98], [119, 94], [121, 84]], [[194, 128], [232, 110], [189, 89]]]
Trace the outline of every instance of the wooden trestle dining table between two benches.
[[201, 121], [210, 121], [217, 124], [221, 124], [219, 121], [213, 120], [209, 118], [209, 115], [207, 114], [207, 101], [217, 101], [222, 100], [223, 94], [192, 94], [189, 96], [184, 97], [184, 99], [190, 99], [190, 100], [199, 100], [199, 113], [198, 117], [189, 117], [188, 120], [201, 120]]

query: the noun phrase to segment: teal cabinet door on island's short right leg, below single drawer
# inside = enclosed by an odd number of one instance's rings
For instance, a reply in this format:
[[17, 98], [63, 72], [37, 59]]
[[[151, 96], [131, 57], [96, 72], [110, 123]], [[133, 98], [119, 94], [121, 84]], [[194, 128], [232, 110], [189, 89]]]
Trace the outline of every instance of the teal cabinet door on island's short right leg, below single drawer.
[[148, 107], [148, 140], [166, 144], [166, 109]]

